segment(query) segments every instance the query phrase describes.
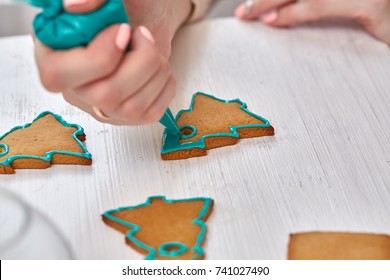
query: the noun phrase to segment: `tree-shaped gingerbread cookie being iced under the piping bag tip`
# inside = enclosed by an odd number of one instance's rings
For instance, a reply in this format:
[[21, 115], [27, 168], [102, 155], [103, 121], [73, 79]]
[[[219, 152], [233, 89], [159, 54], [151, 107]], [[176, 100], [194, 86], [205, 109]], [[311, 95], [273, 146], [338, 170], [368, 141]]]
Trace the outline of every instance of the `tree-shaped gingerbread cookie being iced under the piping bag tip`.
[[207, 150], [237, 144], [240, 138], [274, 135], [265, 118], [252, 113], [240, 99], [224, 100], [197, 92], [188, 110], [176, 116], [181, 135], [165, 129], [161, 158], [186, 159], [205, 156]]

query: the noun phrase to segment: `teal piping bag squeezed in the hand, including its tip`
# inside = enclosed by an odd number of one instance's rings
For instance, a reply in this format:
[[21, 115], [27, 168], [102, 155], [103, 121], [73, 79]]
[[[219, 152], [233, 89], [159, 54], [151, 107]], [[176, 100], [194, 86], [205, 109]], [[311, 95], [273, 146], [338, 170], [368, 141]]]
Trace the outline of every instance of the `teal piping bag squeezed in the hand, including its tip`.
[[[86, 46], [106, 27], [112, 24], [130, 23], [122, 0], [106, 0], [100, 8], [87, 14], [67, 13], [63, 9], [62, 0], [25, 1], [43, 8], [33, 22], [35, 35], [42, 43], [55, 50]], [[173, 134], [180, 134], [169, 108], [160, 123]]]

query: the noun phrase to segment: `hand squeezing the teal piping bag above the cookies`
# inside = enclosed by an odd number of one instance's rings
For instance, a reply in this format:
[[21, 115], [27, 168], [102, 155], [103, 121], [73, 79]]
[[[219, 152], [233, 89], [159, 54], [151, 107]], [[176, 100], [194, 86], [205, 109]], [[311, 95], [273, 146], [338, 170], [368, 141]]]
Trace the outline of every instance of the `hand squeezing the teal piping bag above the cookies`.
[[[30, 2], [46, 5], [50, 17], [58, 11], [52, 3], [62, 1]], [[88, 15], [114, 2], [122, 5], [120, 0], [64, 0], [59, 7], [70, 16]], [[191, 5], [182, 0], [180, 8], [173, 9], [173, 0], [139, 2], [123, 1], [126, 10], [132, 11], [128, 12], [132, 27], [121, 20], [110, 23], [86, 45], [55, 50], [37, 32], [35, 56], [43, 85], [62, 92], [66, 101], [102, 122], [139, 125], [160, 120], [176, 91], [168, 63], [170, 42], [189, 16]], [[69, 27], [78, 28], [74, 22]]]

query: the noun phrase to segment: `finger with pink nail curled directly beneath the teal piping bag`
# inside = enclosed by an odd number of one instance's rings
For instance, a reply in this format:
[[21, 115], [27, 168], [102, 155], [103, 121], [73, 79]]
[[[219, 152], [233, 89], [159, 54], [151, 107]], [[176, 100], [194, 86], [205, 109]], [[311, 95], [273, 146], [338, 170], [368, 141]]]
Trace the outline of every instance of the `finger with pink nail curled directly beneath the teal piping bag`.
[[[43, 85], [58, 92], [111, 74], [124, 56], [123, 46], [119, 48], [119, 45], [129, 41], [130, 32], [128, 24], [112, 25], [87, 47], [57, 51], [35, 39], [35, 58]], [[122, 36], [123, 42], [118, 42], [118, 35]]]

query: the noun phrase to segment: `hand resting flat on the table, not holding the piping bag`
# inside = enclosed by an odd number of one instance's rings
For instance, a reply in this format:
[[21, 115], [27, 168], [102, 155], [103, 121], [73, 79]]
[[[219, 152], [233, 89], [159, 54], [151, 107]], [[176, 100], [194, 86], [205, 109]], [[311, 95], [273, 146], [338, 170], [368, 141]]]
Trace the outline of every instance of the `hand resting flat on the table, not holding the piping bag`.
[[315, 21], [330, 17], [356, 19], [372, 35], [390, 43], [390, 0], [254, 0], [245, 3], [235, 14], [244, 20], [263, 17], [263, 22], [276, 27]]

